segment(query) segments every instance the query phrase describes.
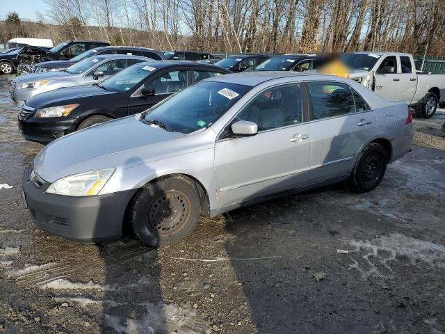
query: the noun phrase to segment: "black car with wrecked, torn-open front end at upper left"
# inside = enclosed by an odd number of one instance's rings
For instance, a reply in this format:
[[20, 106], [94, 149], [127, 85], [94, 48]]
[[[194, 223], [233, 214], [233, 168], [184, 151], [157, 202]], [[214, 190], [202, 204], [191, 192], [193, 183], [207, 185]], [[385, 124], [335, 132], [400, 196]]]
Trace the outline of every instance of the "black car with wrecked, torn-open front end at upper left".
[[92, 40], [67, 40], [49, 50], [43, 47], [31, 47], [31, 45], [28, 45], [19, 53], [18, 59], [20, 65], [18, 66], [17, 72], [30, 72], [31, 66], [35, 65], [35, 63], [70, 60], [90, 49], [106, 47], [108, 45], [110, 45], [110, 43]]

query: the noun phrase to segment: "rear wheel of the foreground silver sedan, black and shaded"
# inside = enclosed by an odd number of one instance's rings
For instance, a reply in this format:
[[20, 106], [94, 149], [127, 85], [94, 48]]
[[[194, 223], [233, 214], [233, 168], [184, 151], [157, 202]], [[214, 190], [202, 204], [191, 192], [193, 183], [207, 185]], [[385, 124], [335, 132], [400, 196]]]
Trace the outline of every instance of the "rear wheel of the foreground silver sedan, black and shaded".
[[378, 143], [370, 143], [360, 153], [350, 175], [350, 185], [359, 193], [373, 190], [382, 181], [387, 169], [388, 157]]

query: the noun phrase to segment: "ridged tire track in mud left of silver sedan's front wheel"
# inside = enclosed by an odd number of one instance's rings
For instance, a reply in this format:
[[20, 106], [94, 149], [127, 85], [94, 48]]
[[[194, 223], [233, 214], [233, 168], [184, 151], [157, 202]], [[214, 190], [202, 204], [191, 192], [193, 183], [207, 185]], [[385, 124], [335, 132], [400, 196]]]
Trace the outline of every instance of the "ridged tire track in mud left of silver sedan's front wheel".
[[135, 257], [147, 255], [153, 251], [154, 248], [150, 249], [143, 245], [130, 246], [117, 250], [115, 253], [113, 252], [99, 257], [96, 260], [86, 261], [85, 259], [76, 259], [64, 262], [50, 262], [49, 264], [43, 264], [36, 269], [30, 269], [29, 271], [26, 271], [26, 273], [21, 274], [22, 271], [26, 270], [25, 267], [16, 273], [11, 272], [9, 277], [13, 278], [15, 283], [21, 287], [31, 287], [33, 285], [49, 283], [52, 280], [57, 280], [59, 278], [66, 278], [67, 276], [70, 276], [71, 273], [81, 272], [92, 267], [100, 265], [109, 267], [122, 262], [127, 262], [133, 260]]

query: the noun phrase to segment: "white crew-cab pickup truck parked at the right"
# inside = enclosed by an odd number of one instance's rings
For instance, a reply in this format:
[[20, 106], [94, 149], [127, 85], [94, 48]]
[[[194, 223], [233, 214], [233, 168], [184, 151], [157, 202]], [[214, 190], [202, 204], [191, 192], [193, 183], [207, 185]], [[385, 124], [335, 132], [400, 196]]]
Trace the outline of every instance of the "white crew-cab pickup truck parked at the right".
[[[414, 106], [416, 116], [430, 118], [445, 101], [445, 74], [416, 72], [411, 54], [398, 52], [354, 52], [347, 63], [349, 78], [391, 101]], [[352, 64], [351, 64], [352, 63]]]

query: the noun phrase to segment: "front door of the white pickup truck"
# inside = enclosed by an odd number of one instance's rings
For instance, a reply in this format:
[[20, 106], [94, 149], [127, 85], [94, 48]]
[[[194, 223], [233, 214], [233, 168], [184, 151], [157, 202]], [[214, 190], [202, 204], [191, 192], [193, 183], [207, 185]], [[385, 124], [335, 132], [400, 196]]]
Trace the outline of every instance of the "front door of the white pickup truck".
[[[385, 70], [393, 68], [394, 72], [387, 73]], [[374, 74], [375, 93], [378, 93], [386, 100], [398, 100], [399, 91], [401, 89], [401, 74], [398, 72], [397, 56], [382, 57], [380, 65]]]

